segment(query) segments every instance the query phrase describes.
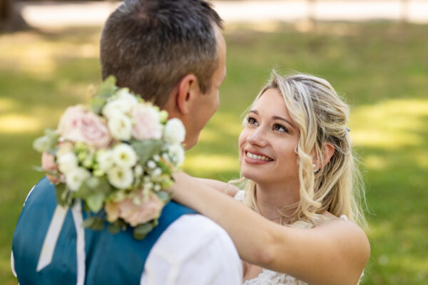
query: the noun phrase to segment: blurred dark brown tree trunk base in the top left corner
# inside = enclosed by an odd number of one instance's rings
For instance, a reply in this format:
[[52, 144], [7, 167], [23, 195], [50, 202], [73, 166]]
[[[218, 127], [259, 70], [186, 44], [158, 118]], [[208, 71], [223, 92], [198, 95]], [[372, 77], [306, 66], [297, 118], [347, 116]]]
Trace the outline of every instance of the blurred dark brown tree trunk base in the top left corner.
[[15, 4], [15, 0], [0, 0], [0, 32], [23, 31], [30, 28]]

